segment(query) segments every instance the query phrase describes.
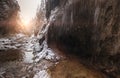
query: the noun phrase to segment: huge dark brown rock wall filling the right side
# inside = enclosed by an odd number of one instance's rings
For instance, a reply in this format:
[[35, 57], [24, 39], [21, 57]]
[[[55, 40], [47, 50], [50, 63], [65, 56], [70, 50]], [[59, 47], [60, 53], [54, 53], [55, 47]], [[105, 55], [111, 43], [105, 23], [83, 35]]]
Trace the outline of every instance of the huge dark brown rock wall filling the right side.
[[47, 35], [39, 42], [46, 38], [67, 58], [76, 57], [107, 78], [120, 78], [120, 0], [45, 1]]

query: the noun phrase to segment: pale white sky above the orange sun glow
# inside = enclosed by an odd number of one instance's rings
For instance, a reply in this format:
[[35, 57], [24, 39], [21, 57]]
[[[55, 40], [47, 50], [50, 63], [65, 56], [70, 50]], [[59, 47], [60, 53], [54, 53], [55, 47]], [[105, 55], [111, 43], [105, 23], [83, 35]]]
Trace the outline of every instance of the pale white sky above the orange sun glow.
[[17, 0], [20, 5], [20, 15], [22, 20], [25, 23], [29, 23], [29, 21], [35, 16], [38, 5], [40, 4], [40, 0]]

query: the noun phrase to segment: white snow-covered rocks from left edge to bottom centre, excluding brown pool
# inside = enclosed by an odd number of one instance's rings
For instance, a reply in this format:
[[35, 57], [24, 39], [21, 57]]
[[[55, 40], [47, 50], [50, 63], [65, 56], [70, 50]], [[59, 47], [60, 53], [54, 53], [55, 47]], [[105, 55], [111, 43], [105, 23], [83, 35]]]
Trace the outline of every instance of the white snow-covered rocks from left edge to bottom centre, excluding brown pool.
[[[24, 53], [22, 62], [30, 65], [27, 70], [32, 70], [31, 72], [35, 73], [34, 78], [50, 78], [46, 70], [59, 60], [54, 51], [48, 47], [46, 40], [40, 45], [39, 38], [34, 35], [28, 37], [24, 34], [16, 34], [15, 36], [1, 38], [0, 50], [9, 49], [19, 49], [20, 52]], [[27, 74], [21, 78], [26, 77]], [[0, 78], [2, 78], [1, 71]]]

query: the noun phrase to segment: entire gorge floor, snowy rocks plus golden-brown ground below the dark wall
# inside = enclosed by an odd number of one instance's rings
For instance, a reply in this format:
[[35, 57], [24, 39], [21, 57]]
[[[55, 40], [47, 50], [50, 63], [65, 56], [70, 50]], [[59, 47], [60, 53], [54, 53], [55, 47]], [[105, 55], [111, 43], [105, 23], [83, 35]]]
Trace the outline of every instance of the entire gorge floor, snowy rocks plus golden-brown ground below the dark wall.
[[0, 78], [106, 78], [76, 57], [52, 50], [24, 34], [0, 38]]

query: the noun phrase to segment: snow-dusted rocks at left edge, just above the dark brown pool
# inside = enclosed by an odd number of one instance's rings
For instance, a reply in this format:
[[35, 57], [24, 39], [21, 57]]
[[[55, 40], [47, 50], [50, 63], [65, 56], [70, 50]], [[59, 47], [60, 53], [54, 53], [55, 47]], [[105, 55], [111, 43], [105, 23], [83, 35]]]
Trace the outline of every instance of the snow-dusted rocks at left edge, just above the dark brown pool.
[[[24, 34], [16, 34], [15, 36], [0, 38], [0, 50], [18, 49], [25, 41]], [[19, 42], [21, 41], [21, 43]]]

